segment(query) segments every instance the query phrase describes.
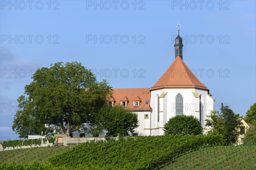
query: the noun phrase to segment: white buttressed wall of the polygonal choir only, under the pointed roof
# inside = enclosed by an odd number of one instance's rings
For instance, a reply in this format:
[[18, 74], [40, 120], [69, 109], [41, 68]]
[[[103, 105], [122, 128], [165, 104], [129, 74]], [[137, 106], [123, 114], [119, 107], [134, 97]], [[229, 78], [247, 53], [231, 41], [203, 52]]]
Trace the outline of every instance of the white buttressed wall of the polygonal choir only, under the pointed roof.
[[[157, 122], [157, 96], [161, 96], [167, 92], [166, 96], [160, 98], [160, 121]], [[196, 92], [195, 96], [192, 92]], [[152, 120], [151, 129], [152, 135], [163, 135], [163, 126], [171, 117], [176, 116], [176, 96], [180, 94], [183, 97], [183, 113], [185, 115], [193, 115], [200, 118], [199, 115], [199, 96], [201, 95], [202, 102], [202, 122], [201, 125], [205, 128], [206, 115], [214, 110], [214, 99], [208, 95], [207, 90], [196, 88], [164, 88], [151, 91]], [[204, 130], [206, 132], [207, 129]]]

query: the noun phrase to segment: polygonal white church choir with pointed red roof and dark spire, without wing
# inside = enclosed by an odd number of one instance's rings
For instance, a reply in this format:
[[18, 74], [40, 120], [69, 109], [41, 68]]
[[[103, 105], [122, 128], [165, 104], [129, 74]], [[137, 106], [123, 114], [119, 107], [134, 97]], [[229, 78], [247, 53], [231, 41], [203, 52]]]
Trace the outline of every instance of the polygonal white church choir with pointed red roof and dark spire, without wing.
[[[178, 115], [192, 115], [201, 122], [204, 133], [207, 115], [214, 110], [214, 99], [207, 88], [183, 61], [180, 23], [175, 39], [175, 60], [166, 72], [151, 87], [151, 128], [150, 135], [163, 135], [164, 125]], [[144, 127], [147, 128], [147, 127]]]

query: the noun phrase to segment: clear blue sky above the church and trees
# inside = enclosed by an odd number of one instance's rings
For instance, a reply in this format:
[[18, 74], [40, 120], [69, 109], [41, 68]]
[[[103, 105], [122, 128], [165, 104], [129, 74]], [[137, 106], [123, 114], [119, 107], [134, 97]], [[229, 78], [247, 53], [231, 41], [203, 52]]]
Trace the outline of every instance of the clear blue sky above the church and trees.
[[256, 1], [0, 1], [0, 140], [37, 68], [81, 62], [113, 88], [150, 88], [175, 59], [245, 115], [256, 101]]

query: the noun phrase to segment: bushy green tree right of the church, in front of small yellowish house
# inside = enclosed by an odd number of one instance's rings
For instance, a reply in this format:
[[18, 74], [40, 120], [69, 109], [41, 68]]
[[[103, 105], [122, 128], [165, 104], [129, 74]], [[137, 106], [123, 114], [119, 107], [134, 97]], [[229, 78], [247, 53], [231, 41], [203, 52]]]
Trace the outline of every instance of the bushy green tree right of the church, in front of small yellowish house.
[[207, 116], [206, 126], [212, 127], [208, 133], [221, 134], [224, 137], [225, 143], [236, 143], [240, 134], [239, 128], [241, 122], [239, 121], [239, 114], [235, 114], [228, 105], [221, 103], [219, 111], [212, 111]]

